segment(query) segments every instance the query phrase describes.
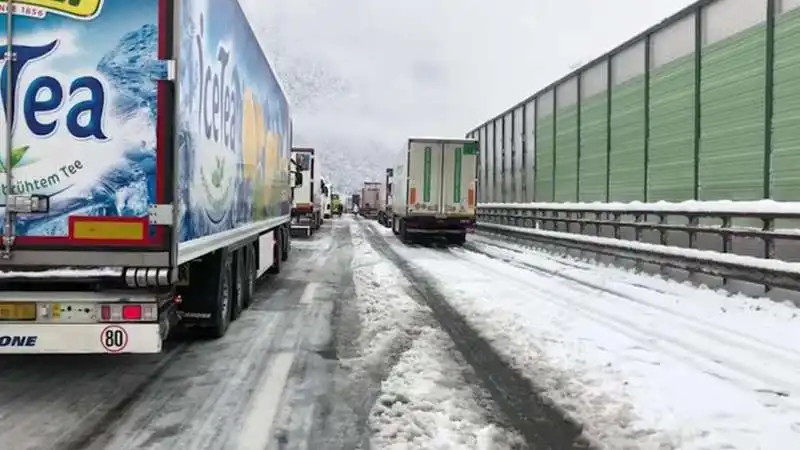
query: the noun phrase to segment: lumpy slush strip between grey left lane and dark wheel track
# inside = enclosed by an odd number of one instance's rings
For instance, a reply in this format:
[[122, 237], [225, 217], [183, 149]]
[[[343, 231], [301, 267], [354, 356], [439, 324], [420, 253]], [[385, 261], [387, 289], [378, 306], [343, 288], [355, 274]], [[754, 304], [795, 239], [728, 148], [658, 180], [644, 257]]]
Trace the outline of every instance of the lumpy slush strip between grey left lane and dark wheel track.
[[409, 297], [408, 281], [351, 225], [353, 278], [361, 316], [364, 370], [382, 377], [369, 415], [371, 448], [503, 450], [519, 438], [487, 419], [464, 364], [430, 310]]

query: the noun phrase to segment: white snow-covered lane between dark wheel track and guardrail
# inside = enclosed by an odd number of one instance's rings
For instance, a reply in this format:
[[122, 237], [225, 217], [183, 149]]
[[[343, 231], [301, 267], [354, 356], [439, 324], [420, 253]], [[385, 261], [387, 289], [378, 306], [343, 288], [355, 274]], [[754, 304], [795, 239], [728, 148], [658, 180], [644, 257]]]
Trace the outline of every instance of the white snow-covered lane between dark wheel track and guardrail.
[[798, 311], [486, 237], [408, 269], [607, 448], [800, 448]]

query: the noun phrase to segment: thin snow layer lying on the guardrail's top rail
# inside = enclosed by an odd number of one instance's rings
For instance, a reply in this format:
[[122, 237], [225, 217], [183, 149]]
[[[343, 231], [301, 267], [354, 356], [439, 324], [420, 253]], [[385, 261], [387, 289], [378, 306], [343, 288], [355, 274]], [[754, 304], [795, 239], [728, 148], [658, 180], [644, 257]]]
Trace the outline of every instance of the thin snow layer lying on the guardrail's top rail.
[[650, 212], [680, 211], [708, 213], [753, 213], [753, 214], [800, 214], [800, 202], [776, 202], [774, 200], [758, 201], [698, 201], [684, 202], [585, 202], [585, 203], [481, 203], [479, 208], [526, 208], [526, 209], [561, 209], [573, 211], [612, 211], [612, 212]]

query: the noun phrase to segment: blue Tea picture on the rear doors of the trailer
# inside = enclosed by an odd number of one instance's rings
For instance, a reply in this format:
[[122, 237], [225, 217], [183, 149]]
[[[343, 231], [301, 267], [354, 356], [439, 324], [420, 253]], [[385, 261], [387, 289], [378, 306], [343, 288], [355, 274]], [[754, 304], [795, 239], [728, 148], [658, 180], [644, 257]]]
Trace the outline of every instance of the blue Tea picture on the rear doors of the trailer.
[[[13, 3], [15, 58], [0, 89], [11, 167], [2, 158], [0, 194], [51, 203], [48, 214], [17, 217], [22, 238], [67, 237], [70, 216], [144, 217], [155, 202], [158, 0], [70, 3]], [[6, 47], [5, 18], [0, 35]]]

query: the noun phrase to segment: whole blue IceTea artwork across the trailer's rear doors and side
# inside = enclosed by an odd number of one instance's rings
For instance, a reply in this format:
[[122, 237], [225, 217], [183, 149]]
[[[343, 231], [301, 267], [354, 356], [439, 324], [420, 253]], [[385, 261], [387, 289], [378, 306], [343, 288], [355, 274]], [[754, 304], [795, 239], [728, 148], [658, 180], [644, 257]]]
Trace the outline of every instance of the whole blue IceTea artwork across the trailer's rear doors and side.
[[[159, 173], [160, 114], [175, 125], [180, 242], [288, 214], [289, 108], [241, 7], [175, 1], [171, 111], [157, 104], [162, 1], [14, 2], [16, 59], [0, 74], [0, 144], [10, 123], [11, 167], [0, 158], [0, 197], [45, 194], [51, 204], [47, 214], [17, 216], [22, 240], [69, 241], [75, 217], [145, 220], [159, 182], [173, 187]], [[8, 32], [2, 20], [0, 45]]]

